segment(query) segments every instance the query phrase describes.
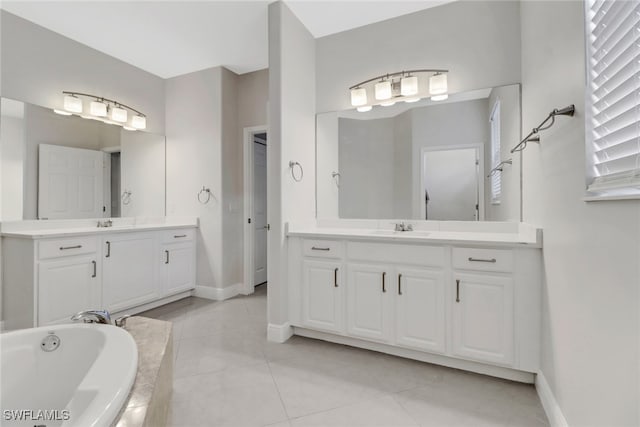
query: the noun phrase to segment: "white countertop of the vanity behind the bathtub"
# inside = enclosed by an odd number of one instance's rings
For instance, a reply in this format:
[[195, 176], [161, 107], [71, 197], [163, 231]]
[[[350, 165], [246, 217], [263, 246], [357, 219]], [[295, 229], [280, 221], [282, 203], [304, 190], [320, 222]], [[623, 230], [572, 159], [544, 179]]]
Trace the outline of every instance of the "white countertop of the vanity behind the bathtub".
[[40, 239], [92, 234], [130, 233], [163, 229], [195, 228], [197, 218], [116, 218], [111, 227], [98, 227], [98, 220], [12, 221], [0, 224], [2, 237]]

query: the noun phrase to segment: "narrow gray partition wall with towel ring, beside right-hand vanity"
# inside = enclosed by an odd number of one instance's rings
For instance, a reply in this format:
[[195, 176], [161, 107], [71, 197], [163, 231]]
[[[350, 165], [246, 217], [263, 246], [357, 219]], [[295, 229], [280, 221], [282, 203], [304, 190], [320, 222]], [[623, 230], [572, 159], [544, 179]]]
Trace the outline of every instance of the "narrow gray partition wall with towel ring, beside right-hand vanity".
[[[315, 218], [316, 41], [282, 2], [269, 5], [269, 323], [287, 322], [285, 223]], [[291, 178], [289, 161], [304, 167]]]

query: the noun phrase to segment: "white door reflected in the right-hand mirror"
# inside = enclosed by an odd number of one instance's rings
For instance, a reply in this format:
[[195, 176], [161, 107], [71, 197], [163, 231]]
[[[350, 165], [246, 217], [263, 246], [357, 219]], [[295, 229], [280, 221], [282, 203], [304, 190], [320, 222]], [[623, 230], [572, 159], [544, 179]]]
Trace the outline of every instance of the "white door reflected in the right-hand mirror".
[[423, 162], [423, 218], [478, 220], [478, 149], [425, 151]]

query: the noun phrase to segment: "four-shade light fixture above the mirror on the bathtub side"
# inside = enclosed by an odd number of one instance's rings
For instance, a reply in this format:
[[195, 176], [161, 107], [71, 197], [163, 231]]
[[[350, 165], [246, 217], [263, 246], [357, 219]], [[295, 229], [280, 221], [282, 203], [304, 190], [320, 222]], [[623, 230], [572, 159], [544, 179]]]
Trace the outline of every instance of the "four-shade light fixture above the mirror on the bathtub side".
[[[133, 107], [103, 96], [88, 93], [63, 91], [63, 108], [53, 111], [63, 116], [78, 115], [85, 119], [100, 120], [104, 123], [122, 126], [126, 130], [147, 128], [147, 116]], [[84, 113], [82, 98], [89, 98], [88, 114]], [[132, 114], [129, 114], [132, 113]], [[131, 120], [129, 120], [131, 117]]]

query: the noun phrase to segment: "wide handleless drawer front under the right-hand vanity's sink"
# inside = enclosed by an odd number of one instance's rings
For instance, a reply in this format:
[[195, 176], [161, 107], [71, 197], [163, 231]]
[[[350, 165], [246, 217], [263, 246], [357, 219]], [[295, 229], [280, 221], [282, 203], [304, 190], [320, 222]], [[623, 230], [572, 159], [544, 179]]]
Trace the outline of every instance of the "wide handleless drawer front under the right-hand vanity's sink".
[[349, 242], [347, 255], [359, 261], [444, 267], [444, 248], [439, 246]]

